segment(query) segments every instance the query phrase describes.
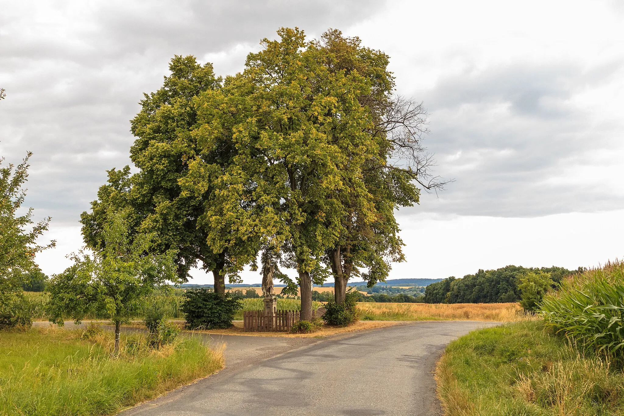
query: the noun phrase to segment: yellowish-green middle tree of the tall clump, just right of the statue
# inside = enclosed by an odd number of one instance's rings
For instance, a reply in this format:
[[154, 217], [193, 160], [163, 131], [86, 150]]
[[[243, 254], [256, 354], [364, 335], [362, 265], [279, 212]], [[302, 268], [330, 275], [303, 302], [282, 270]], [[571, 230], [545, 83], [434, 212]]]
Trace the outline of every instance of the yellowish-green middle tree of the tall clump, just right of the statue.
[[358, 97], [370, 82], [357, 71], [332, 71], [326, 51], [298, 29], [280, 29], [249, 54], [245, 71], [232, 80], [251, 105], [233, 139], [236, 165], [253, 190], [253, 201], [283, 264], [298, 271], [301, 317], [311, 317], [312, 283], [323, 283], [326, 251], [343, 233], [345, 198], [358, 200], [366, 223], [374, 221], [363, 164], [378, 154], [369, 110]]

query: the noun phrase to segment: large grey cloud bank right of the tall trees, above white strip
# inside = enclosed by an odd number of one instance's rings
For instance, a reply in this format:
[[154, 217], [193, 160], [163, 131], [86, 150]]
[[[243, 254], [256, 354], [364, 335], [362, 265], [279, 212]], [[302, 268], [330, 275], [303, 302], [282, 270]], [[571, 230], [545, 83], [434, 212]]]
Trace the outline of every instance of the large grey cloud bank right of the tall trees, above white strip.
[[[459, 74], [417, 93], [431, 113], [427, 144], [436, 153], [436, 172], [456, 181], [437, 200], [424, 195], [419, 208], [402, 215], [542, 216], [621, 208], [624, 194], [603, 182], [610, 178], [577, 181], [570, 171], [608, 165], [593, 155], [620, 150], [624, 126], [571, 101], [585, 90], [608, 87], [623, 70], [624, 59], [590, 69], [573, 62], [516, 64]], [[610, 163], [622, 167], [621, 160]]]

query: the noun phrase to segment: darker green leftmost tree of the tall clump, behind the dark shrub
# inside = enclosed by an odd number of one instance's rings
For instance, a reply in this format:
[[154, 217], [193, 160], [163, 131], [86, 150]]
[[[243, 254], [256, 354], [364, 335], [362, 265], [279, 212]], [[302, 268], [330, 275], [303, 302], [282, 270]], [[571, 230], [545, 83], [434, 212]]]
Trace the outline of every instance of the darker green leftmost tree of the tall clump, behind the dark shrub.
[[[238, 252], [248, 252], [245, 241], [234, 244], [209, 244], [219, 240], [217, 230], [207, 227], [203, 218], [205, 207], [212, 206], [209, 198], [218, 198], [210, 189], [183, 192], [189, 161], [198, 157], [198, 142], [203, 138], [195, 131], [198, 112], [195, 101], [202, 93], [217, 94], [222, 80], [215, 77], [211, 64], [200, 65], [194, 57], [176, 56], [171, 60], [171, 74], [165, 77], [161, 89], [145, 94], [142, 109], [132, 120], [136, 140], [130, 148], [130, 159], [139, 172], [130, 168], [109, 171], [108, 183], [98, 192], [92, 210], [81, 216], [82, 233], [89, 248], [105, 246], [104, 223], [109, 210], [125, 210], [130, 238], [143, 233], [154, 234], [150, 247], [154, 253], [175, 250], [178, 274], [188, 281], [188, 271], [199, 263], [212, 271], [215, 293], [225, 294], [225, 274], [232, 271], [232, 283], [241, 269]], [[233, 147], [224, 137], [215, 152], [202, 154], [215, 176], [230, 163]], [[218, 230], [220, 231], [220, 230]], [[215, 235], [217, 237], [215, 237]], [[222, 243], [222, 241], [219, 241]], [[230, 249], [231, 248], [231, 249]], [[242, 262], [244, 263], [244, 261]]]

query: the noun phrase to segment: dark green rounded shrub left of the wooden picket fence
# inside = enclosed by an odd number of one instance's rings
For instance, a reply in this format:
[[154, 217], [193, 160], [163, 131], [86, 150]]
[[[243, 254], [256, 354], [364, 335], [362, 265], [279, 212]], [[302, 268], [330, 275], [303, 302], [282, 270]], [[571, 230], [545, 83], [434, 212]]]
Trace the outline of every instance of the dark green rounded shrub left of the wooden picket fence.
[[197, 289], [184, 294], [182, 311], [186, 315], [187, 329], [229, 328], [238, 309], [240, 299], [225, 294], [221, 297], [208, 289]]

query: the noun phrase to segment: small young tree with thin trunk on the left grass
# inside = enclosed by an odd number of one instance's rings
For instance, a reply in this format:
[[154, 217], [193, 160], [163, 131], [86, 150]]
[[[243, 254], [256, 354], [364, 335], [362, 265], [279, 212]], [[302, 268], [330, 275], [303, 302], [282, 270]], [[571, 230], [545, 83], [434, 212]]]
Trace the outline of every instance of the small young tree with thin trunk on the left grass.
[[177, 281], [175, 251], [149, 253], [149, 236], [134, 236], [130, 243], [123, 213], [112, 213], [104, 225], [104, 248], [92, 255], [72, 254], [74, 264], [52, 276], [49, 284], [50, 321], [63, 317], [82, 321], [88, 312], [105, 314], [115, 324], [115, 352], [120, 326], [134, 314], [134, 304], [155, 286]]

